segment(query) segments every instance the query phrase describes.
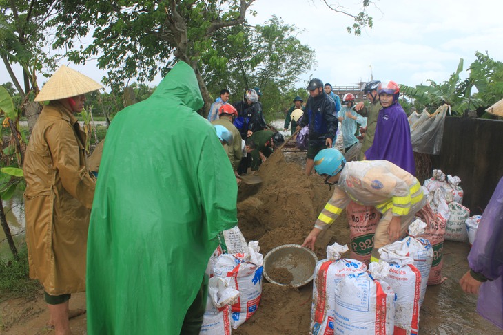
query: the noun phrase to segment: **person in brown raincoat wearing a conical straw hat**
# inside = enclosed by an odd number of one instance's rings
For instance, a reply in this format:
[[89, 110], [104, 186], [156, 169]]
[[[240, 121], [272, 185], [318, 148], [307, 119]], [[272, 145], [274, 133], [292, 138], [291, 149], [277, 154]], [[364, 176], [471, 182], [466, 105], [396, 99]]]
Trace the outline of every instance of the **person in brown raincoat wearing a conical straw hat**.
[[25, 153], [25, 220], [30, 277], [38, 279], [55, 334], [72, 334], [70, 294], [85, 291], [85, 254], [96, 181], [85, 158], [85, 133], [74, 113], [102, 86], [61, 66], [35, 101], [47, 102]]

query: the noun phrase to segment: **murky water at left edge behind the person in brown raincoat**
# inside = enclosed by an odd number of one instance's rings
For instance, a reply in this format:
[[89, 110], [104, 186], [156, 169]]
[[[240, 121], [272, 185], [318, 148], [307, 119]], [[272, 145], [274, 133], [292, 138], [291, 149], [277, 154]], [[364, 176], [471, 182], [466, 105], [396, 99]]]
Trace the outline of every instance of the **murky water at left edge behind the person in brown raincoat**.
[[[9, 200], [3, 201], [3, 210], [6, 213], [7, 224], [14, 242], [19, 247], [25, 239], [25, 215], [23, 193], [19, 191]], [[0, 260], [9, 259], [12, 256], [6, 235], [0, 229]]]

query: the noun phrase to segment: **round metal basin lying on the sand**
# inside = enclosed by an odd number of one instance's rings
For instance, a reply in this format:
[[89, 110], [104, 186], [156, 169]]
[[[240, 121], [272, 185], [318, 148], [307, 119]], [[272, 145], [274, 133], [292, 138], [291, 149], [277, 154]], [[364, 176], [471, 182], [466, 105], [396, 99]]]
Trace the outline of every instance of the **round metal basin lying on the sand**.
[[316, 254], [298, 244], [285, 244], [267, 252], [264, 277], [269, 283], [299, 288], [313, 280]]

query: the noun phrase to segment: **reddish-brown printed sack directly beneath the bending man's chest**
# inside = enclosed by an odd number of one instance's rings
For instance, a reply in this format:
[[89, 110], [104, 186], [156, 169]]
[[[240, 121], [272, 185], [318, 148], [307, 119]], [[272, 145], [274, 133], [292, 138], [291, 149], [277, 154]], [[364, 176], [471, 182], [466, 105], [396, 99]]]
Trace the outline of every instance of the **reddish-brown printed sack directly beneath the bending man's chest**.
[[363, 206], [349, 202], [346, 206], [349, 237], [351, 238], [351, 253], [349, 257], [357, 259], [367, 266], [373, 249], [373, 235], [381, 219], [381, 214], [375, 206]]

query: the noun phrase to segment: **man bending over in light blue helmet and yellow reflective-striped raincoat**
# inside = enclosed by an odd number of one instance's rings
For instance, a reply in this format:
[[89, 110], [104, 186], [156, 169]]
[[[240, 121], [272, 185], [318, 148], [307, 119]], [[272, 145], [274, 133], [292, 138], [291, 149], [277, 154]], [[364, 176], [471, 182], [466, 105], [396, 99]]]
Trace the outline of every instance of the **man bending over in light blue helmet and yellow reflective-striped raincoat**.
[[415, 213], [426, 203], [420, 182], [386, 160], [346, 162], [340, 151], [330, 148], [316, 155], [314, 170], [325, 177], [325, 184], [337, 186], [302, 244], [311, 250], [322, 230], [333, 224], [347, 204], [354, 201], [375, 206], [382, 213], [371, 257], [371, 261], [377, 261], [378, 249], [400, 239]]

